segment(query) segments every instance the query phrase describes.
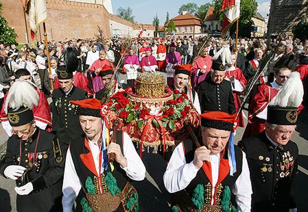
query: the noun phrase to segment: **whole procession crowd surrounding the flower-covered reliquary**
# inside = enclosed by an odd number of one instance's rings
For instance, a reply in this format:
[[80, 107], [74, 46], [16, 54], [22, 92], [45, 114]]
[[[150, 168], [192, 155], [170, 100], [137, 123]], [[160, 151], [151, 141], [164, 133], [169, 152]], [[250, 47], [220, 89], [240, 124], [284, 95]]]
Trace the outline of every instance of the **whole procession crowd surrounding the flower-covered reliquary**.
[[[142, 72], [165, 73], [200, 115], [198, 144], [178, 141], [156, 174], [165, 211], [297, 211], [291, 137], [307, 106], [308, 40], [285, 34], [0, 44], [0, 120], [10, 137], [0, 174], [16, 181], [17, 211], [156, 211], [138, 196], [144, 159], [102, 112]], [[237, 127], [245, 131], [234, 145]]]

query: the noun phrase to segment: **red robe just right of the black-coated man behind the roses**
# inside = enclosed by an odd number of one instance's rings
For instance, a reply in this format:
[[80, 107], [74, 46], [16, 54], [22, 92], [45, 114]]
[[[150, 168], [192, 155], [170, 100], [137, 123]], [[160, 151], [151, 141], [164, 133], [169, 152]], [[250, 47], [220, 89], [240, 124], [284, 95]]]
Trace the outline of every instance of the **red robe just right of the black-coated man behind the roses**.
[[[235, 70], [226, 70], [227, 78], [233, 77], [241, 83], [241, 86], [245, 88], [247, 80], [243, 75], [243, 72], [239, 68], [235, 68]], [[235, 109], [239, 111], [239, 107], [241, 107], [241, 100], [239, 96], [242, 92], [233, 91], [233, 97], [234, 97], [234, 103], [235, 103]], [[239, 117], [237, 118], [237, 127], [245, 127], [244, 124], [244, 117], [243, 117], [243, 111], [239, 114]]]

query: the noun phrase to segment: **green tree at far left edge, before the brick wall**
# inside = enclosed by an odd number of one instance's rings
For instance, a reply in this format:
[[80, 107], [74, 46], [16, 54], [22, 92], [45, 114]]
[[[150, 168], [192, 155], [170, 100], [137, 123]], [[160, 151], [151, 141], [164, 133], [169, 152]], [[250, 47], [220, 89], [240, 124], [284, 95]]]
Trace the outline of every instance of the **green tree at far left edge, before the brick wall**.
[[0, 42], [2, 44], [17, 44], [17, 34], [9, 27], [8, 21], [1, 15], [2, 3], [0, 3]]

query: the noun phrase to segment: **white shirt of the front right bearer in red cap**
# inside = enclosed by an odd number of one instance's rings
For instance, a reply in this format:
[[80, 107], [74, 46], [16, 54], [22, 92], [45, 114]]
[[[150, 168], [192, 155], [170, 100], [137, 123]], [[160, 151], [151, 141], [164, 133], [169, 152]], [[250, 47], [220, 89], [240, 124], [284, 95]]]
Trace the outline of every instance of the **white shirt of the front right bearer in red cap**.
[[[212, 196], [211, 204], [214, 201], [215, 186], [218, 180], [220, 169], [220, 154], [210, 155], [212, 169]], [[245, 153], [243, 153], [242, 171], [231, 191], [235, 195], [238, 211], [250, 211], [252, 187], [250, 182], [250, 172]], [[186, 163], [185, 153], [182, 144], [178, 144], [172, 153], [171, 159], [167, 165], [166, 172], [163, 176], [164, 184], [170, 193], [175, 193], [185, 189], [189, 183], [196, 177], [199, 169], [193, 165], [193, 161]]]

